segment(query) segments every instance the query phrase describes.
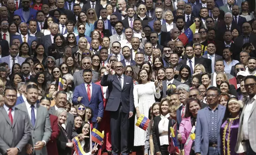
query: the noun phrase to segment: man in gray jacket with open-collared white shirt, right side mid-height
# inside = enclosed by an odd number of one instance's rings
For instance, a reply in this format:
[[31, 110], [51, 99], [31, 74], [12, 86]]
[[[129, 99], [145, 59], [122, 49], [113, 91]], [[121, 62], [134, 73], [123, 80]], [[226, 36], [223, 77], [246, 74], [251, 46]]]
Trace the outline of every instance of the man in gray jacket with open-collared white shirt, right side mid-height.
[[[211, 74], [211, 85], [217, 87], [217, 84], [216, 84], [216, 76], [218, 73], [225, 73], [224, 72], [224, 62], [222, 59], [217, 59], [215, 61], [215, 72]], [[234, 76], [232, 76], [231, 74], [228, 74], [228, 73], [225, 73], [227, 75], [227, 79], [232, 79]]]

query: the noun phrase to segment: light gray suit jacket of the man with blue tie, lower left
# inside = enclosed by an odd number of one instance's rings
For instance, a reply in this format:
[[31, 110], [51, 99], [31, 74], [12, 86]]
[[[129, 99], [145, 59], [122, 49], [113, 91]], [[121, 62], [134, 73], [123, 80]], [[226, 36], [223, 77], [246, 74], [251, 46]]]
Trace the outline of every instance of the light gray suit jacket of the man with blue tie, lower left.
[[[32, 146], [35, 146], [35, 143], [38, 141], [44, 140], [46, 144], [50, 140], [50, 136], [52, 134], [52, 128], [50, 126], [50, 117], [47, 108], [40, 106], [39, 104], [36, 104], [37, 109], [37, 115], [35, 120], [35, 127], [32, 125], [31, 120], [30, 123], [30, 129], [31, 129], [31, 139], [29, 140], [29, 144]], [[25, 102], [19, 104], [16, 106], [16, 108], [23, 110], [24, 112], [31, 113], [27, 111], [27, 106]], [[28, 114], [29, 115], [29, 114]], [[15, 116], [15, 114], [14, 114]], [[46, 146], [43, 147], [41, 150], [35, 151], [33, 149], [33, 154], [35, 155], [47, 155], [47, 149]]]

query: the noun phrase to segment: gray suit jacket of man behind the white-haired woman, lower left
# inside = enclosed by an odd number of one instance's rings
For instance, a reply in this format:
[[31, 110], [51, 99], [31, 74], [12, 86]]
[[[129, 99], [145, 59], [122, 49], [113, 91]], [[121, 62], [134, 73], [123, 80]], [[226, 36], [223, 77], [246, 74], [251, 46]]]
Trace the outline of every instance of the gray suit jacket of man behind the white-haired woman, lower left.
[[[50, 107], [49, 113], [51, 115], [55, 115], [55, 113], [56, 113], [55, 106]], [[68, 134], [68, 138], [72, 139], [72, 138], [74, 138], [75, 136], [78, 135], [76, 133], [76, 128], [75, 128], [75, 125], [74, 125], [74, 116], [72, 114], [68, 113], [68, 117], [67, 117], [65, 125], [66, 125], [66, 131], [67, 131], [67, 134]]]

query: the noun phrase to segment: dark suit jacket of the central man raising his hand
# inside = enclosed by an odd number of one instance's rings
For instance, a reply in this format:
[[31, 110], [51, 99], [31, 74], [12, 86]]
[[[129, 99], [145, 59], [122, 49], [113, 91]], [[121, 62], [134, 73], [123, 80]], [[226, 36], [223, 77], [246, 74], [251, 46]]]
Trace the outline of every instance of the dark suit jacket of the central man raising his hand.
[[134, 111], [133, 98], [133, 79], [124, 75], [124, 84], [121, 87], [117, 75], [103, 75], [101, 79], [102, 86], [108, 86], [109, 99], [107, 102], [107, 111], [116, 112], [122, 104], [122, 112], [129, 113]]

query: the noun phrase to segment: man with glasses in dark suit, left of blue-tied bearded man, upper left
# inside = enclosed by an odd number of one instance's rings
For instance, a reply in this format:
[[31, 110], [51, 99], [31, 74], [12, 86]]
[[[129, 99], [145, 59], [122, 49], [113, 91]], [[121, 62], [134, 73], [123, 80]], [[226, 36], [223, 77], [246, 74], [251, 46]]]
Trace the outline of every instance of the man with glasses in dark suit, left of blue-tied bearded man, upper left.
[[59, 26], [56, 23], [50, 25], [50, 34], [42, 37], [42, 43], [45, 46], [45, 54], [49, 56], [48, 48], [54, 43], [53, 38], [58, 34]]

